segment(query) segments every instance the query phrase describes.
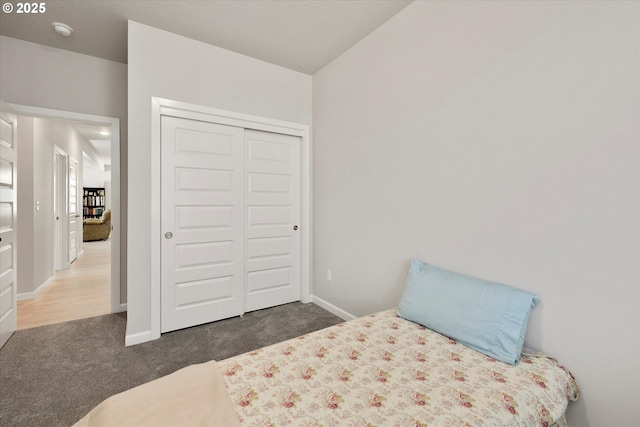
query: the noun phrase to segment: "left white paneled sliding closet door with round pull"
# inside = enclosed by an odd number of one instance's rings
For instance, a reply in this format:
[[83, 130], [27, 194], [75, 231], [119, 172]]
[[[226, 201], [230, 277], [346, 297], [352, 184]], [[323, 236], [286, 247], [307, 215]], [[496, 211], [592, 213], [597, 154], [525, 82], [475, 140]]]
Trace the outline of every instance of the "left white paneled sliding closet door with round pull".
[[161, 331], [244, 310], [241, 128], [161, 119]]

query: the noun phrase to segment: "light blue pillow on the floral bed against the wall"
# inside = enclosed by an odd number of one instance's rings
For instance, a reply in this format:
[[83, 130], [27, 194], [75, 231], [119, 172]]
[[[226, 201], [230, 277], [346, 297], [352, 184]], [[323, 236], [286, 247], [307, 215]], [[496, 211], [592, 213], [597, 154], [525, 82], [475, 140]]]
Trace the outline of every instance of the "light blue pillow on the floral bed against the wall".
[[398, 316], [497, 360], [520, 360], [535, 294], [411, 261]]

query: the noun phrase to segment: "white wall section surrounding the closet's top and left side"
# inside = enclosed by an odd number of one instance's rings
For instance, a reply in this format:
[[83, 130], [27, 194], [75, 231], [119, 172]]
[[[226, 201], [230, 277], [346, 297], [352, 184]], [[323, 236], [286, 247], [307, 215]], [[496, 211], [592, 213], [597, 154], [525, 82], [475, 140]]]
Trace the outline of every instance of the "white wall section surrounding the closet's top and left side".
[[311, 76], [129, 22], [127, 340], [151, 333], [151, 98], [311, 123]]

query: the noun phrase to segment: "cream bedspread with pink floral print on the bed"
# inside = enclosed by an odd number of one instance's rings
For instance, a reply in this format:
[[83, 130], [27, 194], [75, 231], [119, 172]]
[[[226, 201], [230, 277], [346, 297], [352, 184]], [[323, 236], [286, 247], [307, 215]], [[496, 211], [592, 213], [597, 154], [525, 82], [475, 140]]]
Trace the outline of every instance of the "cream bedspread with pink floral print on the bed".
[[218, 362], [246, 426], [566, 425], [578, 397], [554, 359], [516, 366], [394, 310]]

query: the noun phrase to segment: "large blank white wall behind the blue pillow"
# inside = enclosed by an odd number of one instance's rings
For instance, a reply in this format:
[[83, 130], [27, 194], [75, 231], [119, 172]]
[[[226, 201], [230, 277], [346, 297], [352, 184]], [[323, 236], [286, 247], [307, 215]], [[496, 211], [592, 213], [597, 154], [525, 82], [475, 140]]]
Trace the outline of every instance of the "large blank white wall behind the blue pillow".
[[639, 6], [415, 2], [314, 75], [319, 301], [394, 307], [412, 257], [534, 291], [569, 423], [637, 425]]

